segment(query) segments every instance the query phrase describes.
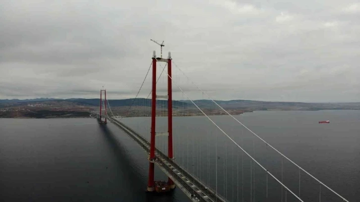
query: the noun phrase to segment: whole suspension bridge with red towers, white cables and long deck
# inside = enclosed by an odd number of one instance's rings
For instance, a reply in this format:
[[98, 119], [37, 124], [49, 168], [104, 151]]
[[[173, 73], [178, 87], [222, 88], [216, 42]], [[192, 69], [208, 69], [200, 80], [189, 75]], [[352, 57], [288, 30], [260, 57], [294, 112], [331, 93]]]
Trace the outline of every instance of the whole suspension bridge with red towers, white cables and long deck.
[[[206, 105], [191, 99], [194, 92], [206, 98]], [[101, 90], [96, 117], [100, 124], [115, 124], [147, 153], [147, 192], [178, 187], [194, 202], [348, 202], [245, 126], [237, 118], [239, 111], [214, 101], [170, 52], [165, 59], [153, 51], [142, 85], [130, 101], [130, 107], [111, 107], [106, 90]], [[229, 129], [230, 122], [240, 129]], [[155, 180], [155, 164], [167, 180]]]

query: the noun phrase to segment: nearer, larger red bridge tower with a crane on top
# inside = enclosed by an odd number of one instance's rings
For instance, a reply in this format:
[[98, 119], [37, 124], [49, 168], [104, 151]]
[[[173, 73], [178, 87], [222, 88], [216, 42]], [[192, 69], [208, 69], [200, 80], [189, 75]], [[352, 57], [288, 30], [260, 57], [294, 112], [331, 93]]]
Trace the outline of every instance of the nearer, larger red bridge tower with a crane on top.
[[[172, 75], [171, 75], [171, 53], [169, 52], [168, 59], [156, 57], [155, 50], [153, 51], [152, 57], [152, 97], [151, 97], [151, 131], [150, 131], [150, 156], [149, 156], [149, 179], [147, 185], [147, 191], [155, 191], [154, 181], [154, 159], [155, 159], [155, 137], [158, 135], [168, 136], [168, 156], [173, 159], [173, 97], [172, 97]], [[168, 63], [168, 95], [161, 96], [156, 95], [156, 62], [167, 62]], [[156, 133], [155, 121], [156, 121], [156, 99], [167, 99], [168, 100], [168, 133]], [[174, 182], [168, 178], [168, 189], [175, 189]]]

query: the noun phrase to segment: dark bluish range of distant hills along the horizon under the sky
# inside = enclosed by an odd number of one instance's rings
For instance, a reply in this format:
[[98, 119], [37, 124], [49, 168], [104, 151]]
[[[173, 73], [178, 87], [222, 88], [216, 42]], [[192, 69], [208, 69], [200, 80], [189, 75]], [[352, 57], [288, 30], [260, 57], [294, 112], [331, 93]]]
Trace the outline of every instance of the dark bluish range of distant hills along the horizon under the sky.
[[[110, 106], [130, 106], [135, 99], [122, 100], [108, 100]], [[39, 98], [27, 100], [0, 100], [0, 105], [16, 104], [25, 102], [42, 102], [42, 101], [67, 101], [78, 103], [81, 105], [98, 106], [100, 99], [52, 99]], [[194, 101], [201, 108], [217, 107], [211, 100], [195, 100]], [[360, 110], [360, 102], [341, 102], [341, 103], [306, 103], [306, 102], [286, 102], [286, 101], [251, 101], [251, 100], [231, 100], [231, 101], [216, 101], [220, 106], [226, 109], [246, 109], [246, 110], [323, 110], [323, 109], [358, 109]], [[157, 100], [157, 106], [166, 107], [166, 100]], [[138, 98], [134, 105], [151, 106], [151, 99]], [[173, 107], [194, 107], [191, 101], [180, 100], [173, 101]]]

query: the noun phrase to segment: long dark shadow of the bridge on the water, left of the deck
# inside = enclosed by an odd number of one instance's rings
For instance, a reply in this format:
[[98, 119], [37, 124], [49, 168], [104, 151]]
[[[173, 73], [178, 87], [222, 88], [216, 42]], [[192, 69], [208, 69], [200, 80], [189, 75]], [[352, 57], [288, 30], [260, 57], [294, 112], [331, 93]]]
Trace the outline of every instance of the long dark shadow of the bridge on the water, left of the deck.
[[[147, 171], [143, 173], [141, 176], [141, 172], [143, 170], [139, 170], [139, 166], [142, 164], [148, 165], [146, 159], [146, 153], [144, 152], [143, 159], [146, 161], [145, 163], [136, 162], [127, 154], [129, 151], [126, 146], [121, 145], [120, 141], [116, 138], [116, 135], [109, 129], [108, 125], [99, 124], [102, 134], [105, 137], [105, 140], [109, 143], [112, 151], [114, 152], [118, 164], [122, 168], [119, 172], [122, 172], [121, 176], [125, 176], [126, 179], [121, 179], [119, 189], [122, 189], [126, 184], [123, 194], [121, 195], [120, 201], [136, 201], [136, 202], [177, 202], [179, 200], [175, 200], [175, 192], [169, 192], [166, 194], [158, 195], [155, 193], [147, 193], [145, 192], [147, 186]], [[119, 133], [122, 133], [126, 136], [125, 133], [119, 130]], [[129, 139], [129, 141], [132, 141]], [[136, 145], [137, 146], [137, 145]], [[138, 147], [140, 150], [140, 147]], [[143, 152], [143, 151], [141, 151]], [[115, 184], [119, 184], [118, 182]]]

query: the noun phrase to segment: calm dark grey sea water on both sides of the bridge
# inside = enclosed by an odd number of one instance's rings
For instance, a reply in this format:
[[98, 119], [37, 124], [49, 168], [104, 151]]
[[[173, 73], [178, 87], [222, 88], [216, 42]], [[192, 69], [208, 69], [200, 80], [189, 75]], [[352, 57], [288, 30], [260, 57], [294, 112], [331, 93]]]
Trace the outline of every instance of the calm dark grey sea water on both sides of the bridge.
[[[347, 200], [359, 201], [360, 111], [258, 111], [236, 117]], [[300, 182], [304, 201], [321, 196], [324, 202], [341, 202], [304, 172], [299, 178], [297, 167], [230, 117], [211, 118], [297, 195]], [[330, 124], [318, 124], [322, 120]], [[149, 137], [149, 118], [121, 121]], [[157, 122], [157, 132], [165, 132], [166, 119]], [[167, 151], [166, 136], [158, 136], [156, 144]], [[231, 202], [297, 201], [204, 116], [174, 117], [174, 150], [180, 165]], [[0, 201], [190, 201], [179, 189], [166, 196], [146, 194], [146, 158], [111, 123], [0, 119]], [[167, 179], [159, 169], [155, 177]]]

